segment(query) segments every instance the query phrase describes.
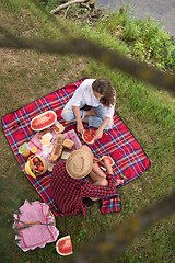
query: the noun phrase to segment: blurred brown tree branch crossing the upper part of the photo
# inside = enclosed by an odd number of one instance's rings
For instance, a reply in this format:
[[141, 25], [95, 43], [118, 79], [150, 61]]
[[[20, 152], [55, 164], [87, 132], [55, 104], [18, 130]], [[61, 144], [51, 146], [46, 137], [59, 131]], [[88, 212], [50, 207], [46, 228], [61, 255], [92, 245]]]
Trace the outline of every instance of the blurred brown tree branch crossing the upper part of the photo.
[[119, 69], [127, 75], [153, 84], [160, 89], [164, 88], [175, 94], [175, 75], [158, 70], [144, 62], [138, 62], [126, 57], [119, 52], [109, 50], [85, 38], [69, 36], [66, 41], [31, 39], [16, 37], [0, 27], [3, 36], [0, 36], [0, 47], [14, 49], [33, 49], [49, 54], [77, 54], [92, 57], [104, 65]]

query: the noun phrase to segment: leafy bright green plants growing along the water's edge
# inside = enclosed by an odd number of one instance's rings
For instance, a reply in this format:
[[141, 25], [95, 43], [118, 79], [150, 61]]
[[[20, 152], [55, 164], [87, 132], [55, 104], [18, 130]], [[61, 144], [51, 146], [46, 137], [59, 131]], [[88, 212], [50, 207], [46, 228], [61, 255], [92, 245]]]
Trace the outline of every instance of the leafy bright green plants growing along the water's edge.
[[154, 64], [160, 68], [175, 69], [175, 41], [163, 30], [163, 22], [153, 18], [136, 19], [135, 8], [130, 15], [129, 7], [114, 12], [105, 20], [100, 20], [98, 27], [108, 30], [118, 38], [126, 42], [131, 54], [141, 61]]

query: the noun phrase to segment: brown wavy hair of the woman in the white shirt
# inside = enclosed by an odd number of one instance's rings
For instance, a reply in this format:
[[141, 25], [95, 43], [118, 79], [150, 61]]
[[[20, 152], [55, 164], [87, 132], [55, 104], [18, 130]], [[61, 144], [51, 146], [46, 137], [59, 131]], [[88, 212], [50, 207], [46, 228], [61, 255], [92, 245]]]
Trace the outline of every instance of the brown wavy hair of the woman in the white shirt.
[[100, 102], [104, 106], [112, 106], [116, 102], [116, 92], [115, 89], [112, 84], [112, 82], [108, 79], [105, 78], [98, 78], [92, 83], [92, 89], [93, 91], [100, 93], [103, 95], [101, 98]]

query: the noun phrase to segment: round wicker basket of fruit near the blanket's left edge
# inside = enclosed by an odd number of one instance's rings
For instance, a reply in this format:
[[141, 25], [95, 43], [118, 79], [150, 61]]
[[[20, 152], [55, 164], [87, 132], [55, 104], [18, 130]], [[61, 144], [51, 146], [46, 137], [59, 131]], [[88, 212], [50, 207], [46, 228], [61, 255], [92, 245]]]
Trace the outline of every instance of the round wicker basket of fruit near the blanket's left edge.
[[[38, 160], [38, 161], [37, 161]], [[36, 162], [37, 161], [37, 162]], [[36, 179], [47, 171], [47, 162], [43, 157], [31, 156], [25, 163], [25, 171], [28, 175]]]

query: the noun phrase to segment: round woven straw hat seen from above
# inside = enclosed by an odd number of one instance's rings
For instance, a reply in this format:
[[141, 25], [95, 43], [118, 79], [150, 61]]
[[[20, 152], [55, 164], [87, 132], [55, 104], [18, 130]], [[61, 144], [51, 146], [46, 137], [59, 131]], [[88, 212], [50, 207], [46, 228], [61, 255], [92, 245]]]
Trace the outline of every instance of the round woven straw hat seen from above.
[[75, 150], [67, 159], [66, 169], [71, 178], [83, 179], [92, 170], [93, 158], [89, 151]]

